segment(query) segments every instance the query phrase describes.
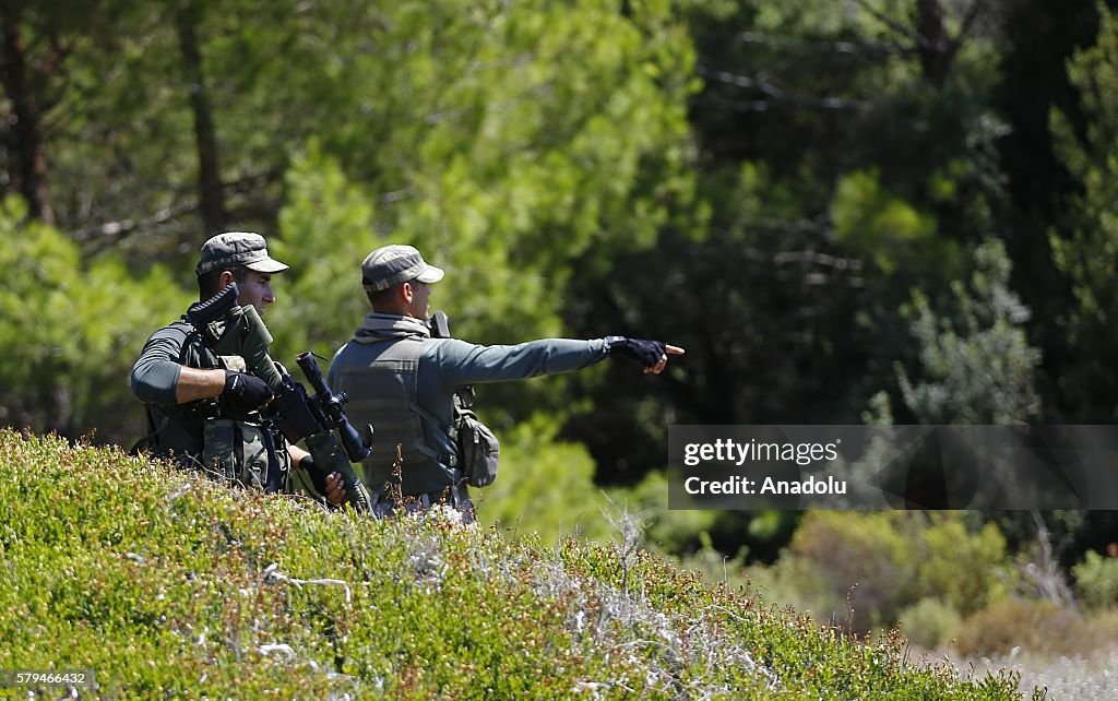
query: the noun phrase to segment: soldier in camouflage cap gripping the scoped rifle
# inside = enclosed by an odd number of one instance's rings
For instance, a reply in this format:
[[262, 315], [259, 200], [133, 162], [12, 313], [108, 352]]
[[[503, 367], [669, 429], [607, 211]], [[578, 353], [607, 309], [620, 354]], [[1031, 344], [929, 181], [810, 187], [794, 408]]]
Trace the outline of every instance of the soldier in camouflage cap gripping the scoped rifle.
[[[272, 275], [286, 269], [286, 264], [268, 254], [259, 234], [219, 234], [202, 244], [199, 253], [195, 269], [199, 300], [208, 300], [235, 282], [238, 305], [252, 304], [263, 315], [276, 300]], [[246, 456], [262, 455], [268, 442], [277, 443], [258, 430], [257, 410], [272, 400], [272, 390], [238, 367], [236, 360], [216, 357], [186, 318], [152, 334], [132, 368], [132, 392], [144, 402], [151, 432], [138, 447], [212, 471], [208, 462], [215, 453], [247, 461]], [[309, 466], [304, 461], [311, 460], [309, 453], [286, 443], [271, 449], [272, 457], [278, 455], [284, 463], [274, 468], [283, 467], [293, 479], [303, 476]], [[239, 471], [224, 476], [245, 483], [256, 481]], [[300, 481], [300, 485], [309, 482]], [[337, 473], [328, 476], [326, 487], [331, 503], [341, 503], [344, 493]]]

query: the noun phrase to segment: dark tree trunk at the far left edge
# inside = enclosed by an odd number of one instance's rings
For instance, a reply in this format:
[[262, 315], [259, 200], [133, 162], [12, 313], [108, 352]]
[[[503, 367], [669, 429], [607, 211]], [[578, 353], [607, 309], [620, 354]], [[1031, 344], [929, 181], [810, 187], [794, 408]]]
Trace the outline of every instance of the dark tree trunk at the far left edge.
[[[0, 34], [2, 50], [0, 70], [3, 89], [11, 101], [10, 133], [8, 134], [8, 181], [12, 190], [26, 199], [31, 217], [46, 224], [55, 222], [47, 193], [47, 159], [42, 151], [42, 120], [36, 85], [45, 83], [46, 75], [36, 75], [32, 83], [23, 41], [23, 27], [19, 10], [8, 3], [0, 6]], [[54, 61], [46, 61], [51, 66]]]

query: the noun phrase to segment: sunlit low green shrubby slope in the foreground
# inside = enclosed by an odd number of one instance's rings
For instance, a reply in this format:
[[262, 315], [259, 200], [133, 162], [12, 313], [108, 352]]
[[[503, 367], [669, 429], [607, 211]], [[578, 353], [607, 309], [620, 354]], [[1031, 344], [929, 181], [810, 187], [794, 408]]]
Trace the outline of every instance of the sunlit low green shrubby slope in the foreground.
[[624, 523], [544, 548], [9, 430], [0, 512], [0, 669], [92, 670], [80, 698], [1020, 698], [708, 587]]

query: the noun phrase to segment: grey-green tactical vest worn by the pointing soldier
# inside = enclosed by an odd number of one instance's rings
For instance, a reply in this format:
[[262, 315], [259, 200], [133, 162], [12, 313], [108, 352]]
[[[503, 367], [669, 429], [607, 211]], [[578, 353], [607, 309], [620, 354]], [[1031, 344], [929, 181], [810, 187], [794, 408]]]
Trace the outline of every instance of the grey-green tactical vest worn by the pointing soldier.
[[[370, 489], [383, 492], [385, 485], [402, 482], [405, 494], [434, 491], [454, 483], [453, 454], [439, 454], [432, 448], [423, 419], [451, 432], [451, 426], [423, 409], [418, 401], [419, 354], [424, 339], [394, 338], [367, 342], [377, 347], [372, 362], [345, 368], [338, 389], [349, 395], [345, 407], [350, 420], [358, 425], [372, 424], [376, 429], [372, 454], [362, 462], [364, 481]], [[396, 449], [402, 463], [394, 475]]]

